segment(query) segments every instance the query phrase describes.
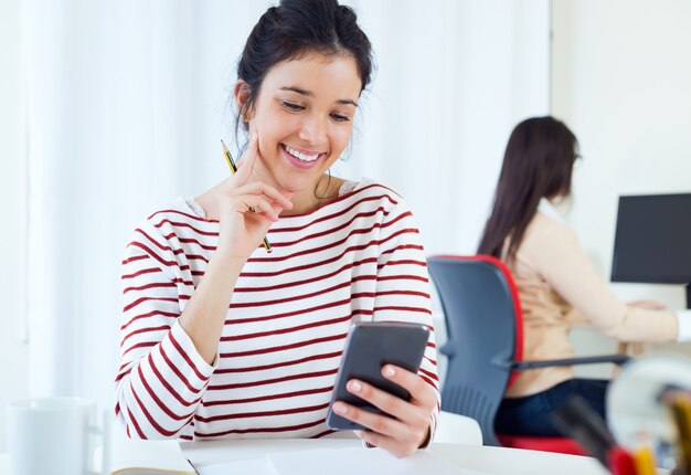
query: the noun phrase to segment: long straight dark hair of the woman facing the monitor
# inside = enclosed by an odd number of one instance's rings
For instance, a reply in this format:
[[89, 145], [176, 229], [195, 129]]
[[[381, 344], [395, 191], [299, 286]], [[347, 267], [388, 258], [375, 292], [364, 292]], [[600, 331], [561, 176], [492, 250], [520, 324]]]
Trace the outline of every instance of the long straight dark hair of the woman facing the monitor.
[[534, 117], [515, 126], [507, 144], [478, 254], [501, 257], [507, 238], [506, 261], [515, 256], [525, 228], [542, 198], [568, 197], [577, 158], [576, 136], [554, 117]]

